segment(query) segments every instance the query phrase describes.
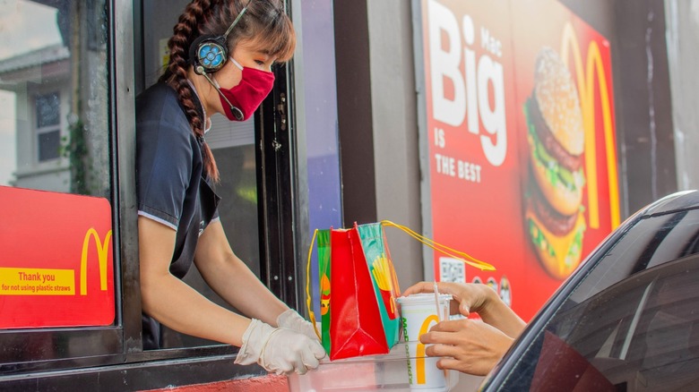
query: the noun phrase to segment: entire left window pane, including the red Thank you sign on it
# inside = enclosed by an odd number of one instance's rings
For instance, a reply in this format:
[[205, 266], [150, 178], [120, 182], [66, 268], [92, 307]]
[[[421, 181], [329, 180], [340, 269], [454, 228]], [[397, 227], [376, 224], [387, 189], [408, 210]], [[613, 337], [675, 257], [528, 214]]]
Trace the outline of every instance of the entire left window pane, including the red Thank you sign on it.
[[[0, 332], [7, 353], [22, 352], [14, 345], [30, 339], [27, 328], [115, 325], [107, 25], [104, 0], [0, 1]], [[24, 354], [63, 355], [54, 346]]]

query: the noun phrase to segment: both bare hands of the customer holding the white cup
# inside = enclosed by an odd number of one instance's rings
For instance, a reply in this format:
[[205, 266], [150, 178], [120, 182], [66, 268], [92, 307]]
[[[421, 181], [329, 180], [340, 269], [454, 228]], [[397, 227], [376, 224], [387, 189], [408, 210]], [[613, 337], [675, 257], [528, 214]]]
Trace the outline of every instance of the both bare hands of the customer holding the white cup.
[[[468, 317], [478, 313], [482, 321], [446, 320], [419, 337], [429, 356], [441, 356], [439, 369], [485, 376], [507, 352], [526, 323], [505, 304], [496, 291], [479, 283], [438, 282], [440, 294], [452, 294], [451, 314]], [[411, 285], [402, 295], [434, 293], [434, 282]]]

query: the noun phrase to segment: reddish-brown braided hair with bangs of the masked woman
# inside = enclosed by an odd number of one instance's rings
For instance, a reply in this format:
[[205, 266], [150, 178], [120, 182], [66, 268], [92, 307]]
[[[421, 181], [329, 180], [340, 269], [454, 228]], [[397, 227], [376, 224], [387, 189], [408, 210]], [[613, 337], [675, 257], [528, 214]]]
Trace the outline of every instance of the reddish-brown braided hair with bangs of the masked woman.
[[[185, 115], [192, 132], [203, 138], [205, 119], [194, 103], [194, 89], [187, 80], [187, 72], [192, 62], [189, 48], [194, 39], [202, 35], [220, 36], [229, 29], [238, 13], [247, 5], [245, 15], [237, 22], [228, 37], [229, 54], [240, 40], [252, 40], [255, 45], [265, 48], [277, 62], [285, 62], [293, 55], [296, 35], [289, 17], [283, 10], [283, 0], [194, 0], [187, 4], [173, 28], [168, 40], [169, 63], [160, 76], [161, 82], [168, 83], [175, 91], [185, 108]], [[214, 182], [219, 181], [219, 169], [207, 143], [202, 149], [203, 170]]]

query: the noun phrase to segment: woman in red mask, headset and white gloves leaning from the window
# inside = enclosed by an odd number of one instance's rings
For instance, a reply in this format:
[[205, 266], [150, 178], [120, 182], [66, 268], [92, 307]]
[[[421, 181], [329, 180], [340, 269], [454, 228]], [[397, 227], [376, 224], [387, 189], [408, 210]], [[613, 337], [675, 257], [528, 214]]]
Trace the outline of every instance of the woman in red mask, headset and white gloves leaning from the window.
[[[274, 82], [274, 62], [296, 46], [282, 0], [194, 0], [169, 38], [160, 80], [136, 98], [136, 175], [144, 348], [160, 323], [240, 347], [236, 363], [277, 374], [314, 369], [325, 356], [313, 326], [272, 294], [231, 250], [213, 191], [219, 179], [204, 134], [211, 115], [248, 119]], [[247, 317], [181, 279], [192, 263]]]

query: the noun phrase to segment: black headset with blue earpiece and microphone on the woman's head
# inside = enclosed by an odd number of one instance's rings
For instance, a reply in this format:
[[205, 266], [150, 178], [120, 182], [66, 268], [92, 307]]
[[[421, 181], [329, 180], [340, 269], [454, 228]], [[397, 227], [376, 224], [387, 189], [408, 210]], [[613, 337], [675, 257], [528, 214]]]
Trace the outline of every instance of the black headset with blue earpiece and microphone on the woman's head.
[[247, 6], [250, 5], [250, 2], [252, 2], [252, 0], [247, 0], [246, 6], [243, 7], [242, 10], [240, 10], [240, 13], [237, 14], [236, 19], [232, 23], [230, 23], [229, 30], [226, 30], [226, 32], [223, 33], [223, 35], [200, 36], [194, 39], [194, 42], [192, 42], [192, 45], [189, 47], [189, 58], [191, 58], [192, 62], [194, 63], [194, 72], [206, 78], [206, 80], [209, 81], [211, 86], [219, 92], [219, 95], [223, 99], [225, 99], [226, 102], [229, 104], [231, 113], [233, 113], [233, 115], [236, 116], [238, 121], [243, 120], [243, 112], [239, 108], [235, 107], [232, 103], [230, 103], [229, 98], [226, 98], [226, 96], [223, 95], [222, 92], [220, 92], [219, 86], [217, 86], [216, 83], [211, 81], [209, 73], [219, 71], [221, 68], [223, 68], [223, 65], [225, 65], [228, 61], [228, 38], [230, 31], [232, 31], [233, 28], [236, 27], [237, 22], [240, 21], [240, 18], [243, 17], [243, 14], [246, 13]]

